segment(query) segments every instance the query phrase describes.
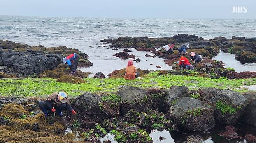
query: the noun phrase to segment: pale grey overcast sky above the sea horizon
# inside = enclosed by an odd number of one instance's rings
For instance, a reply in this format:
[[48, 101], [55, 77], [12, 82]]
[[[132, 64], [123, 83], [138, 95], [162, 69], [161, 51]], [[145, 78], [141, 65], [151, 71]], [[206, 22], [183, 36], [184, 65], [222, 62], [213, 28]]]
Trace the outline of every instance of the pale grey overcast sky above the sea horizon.
[[[256, 0], [0, 0], [0, 5], [0, 15], [256, 19]], [[232, 13], [233, 6], [247, 7], [247, 13]]]

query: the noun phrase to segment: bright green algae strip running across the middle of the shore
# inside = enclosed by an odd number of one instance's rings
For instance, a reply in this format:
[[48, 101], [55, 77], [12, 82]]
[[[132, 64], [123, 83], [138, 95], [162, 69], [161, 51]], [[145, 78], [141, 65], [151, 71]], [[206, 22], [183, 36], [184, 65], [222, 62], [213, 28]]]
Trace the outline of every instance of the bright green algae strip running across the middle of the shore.
[[256, 84], [256, 78], [248, 79], [211, 79], [197, 76], [182, 75], [162, 75], [158, 76], [157, 72], [149, 73], [142, 80], [125, 80], [124, 78], [116, 79], [99, 79], [84, 78], [86, 83], [72, 84], [56, 82], [51, 78], [8, 78], [0, 79], [0, 95], [3, 96], [48, 96], [56, 91], [64, 91], [69, 96], [76, 97], [84, 92], [110, 92], [114, 93], [121, 87], [130, 85], [135, 87], [147, 88], [163, 88], [169, 89], [172, 85], [185, 85], [189, 89], [200, 87], [216, 87], [220, 89], [233, 89], [238, 92], [246, 90], [239, 89], [243, 85]]

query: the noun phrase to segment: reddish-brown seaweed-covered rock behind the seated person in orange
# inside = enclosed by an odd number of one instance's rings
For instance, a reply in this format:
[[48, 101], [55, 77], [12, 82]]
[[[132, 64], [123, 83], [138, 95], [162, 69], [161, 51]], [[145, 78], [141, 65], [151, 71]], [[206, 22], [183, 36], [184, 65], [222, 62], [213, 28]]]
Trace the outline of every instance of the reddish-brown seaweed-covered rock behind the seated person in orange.
[[[140, 68], [138, 68], [137, 71], [139, 72], [140, 77], [149, 73], [148, 70], [141, 70]], [[125, 68], [121, 70], [114, 70], [112, 73], [109, 73], [107, 76], [109, 76], [109, 78], [124, 78], [124, 73], [125, 73]]]

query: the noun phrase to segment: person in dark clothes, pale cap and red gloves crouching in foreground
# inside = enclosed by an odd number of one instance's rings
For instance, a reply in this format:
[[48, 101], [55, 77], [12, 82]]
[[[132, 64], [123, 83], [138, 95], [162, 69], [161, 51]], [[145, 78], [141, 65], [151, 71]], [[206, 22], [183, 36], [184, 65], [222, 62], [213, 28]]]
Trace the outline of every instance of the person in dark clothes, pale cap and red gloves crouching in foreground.
[[60, 116], [63, 116], [63, 109], [68, 109], [72, 114], [75, 114], [75, 110], [69, 105], [68, 97], [65, 92], [52, 93], [46, 100], [38, 102], [39, 107], [44, 112], [44, 115], [48, 116], [48, 111], [55, 112]]

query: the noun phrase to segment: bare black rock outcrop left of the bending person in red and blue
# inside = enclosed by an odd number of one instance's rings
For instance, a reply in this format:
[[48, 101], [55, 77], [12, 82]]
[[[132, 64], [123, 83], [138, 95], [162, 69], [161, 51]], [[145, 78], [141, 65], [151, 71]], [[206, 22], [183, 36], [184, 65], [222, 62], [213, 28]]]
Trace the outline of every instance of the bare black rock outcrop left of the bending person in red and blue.
[[64, 58], [61, 54], [14, 51], [1, 51], [0, 55], [4, 66], [23, 75], [33, 75], [42, 73], [44, 70], [53, 70], [58, 64], [62, 63], [62, 58]]

